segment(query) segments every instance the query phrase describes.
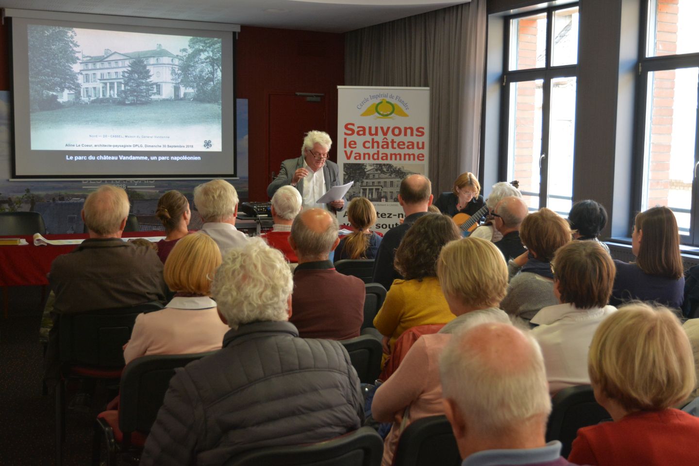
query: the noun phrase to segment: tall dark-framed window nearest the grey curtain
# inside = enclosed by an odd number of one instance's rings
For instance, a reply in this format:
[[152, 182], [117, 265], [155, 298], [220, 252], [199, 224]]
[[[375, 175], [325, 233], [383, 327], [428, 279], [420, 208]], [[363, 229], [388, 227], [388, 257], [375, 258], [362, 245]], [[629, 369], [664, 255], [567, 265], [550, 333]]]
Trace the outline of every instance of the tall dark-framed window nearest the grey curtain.
[[531, 210], [568, 214], [572, 199], [577, 5], [507, 18], [500, 180], [518, 180]]

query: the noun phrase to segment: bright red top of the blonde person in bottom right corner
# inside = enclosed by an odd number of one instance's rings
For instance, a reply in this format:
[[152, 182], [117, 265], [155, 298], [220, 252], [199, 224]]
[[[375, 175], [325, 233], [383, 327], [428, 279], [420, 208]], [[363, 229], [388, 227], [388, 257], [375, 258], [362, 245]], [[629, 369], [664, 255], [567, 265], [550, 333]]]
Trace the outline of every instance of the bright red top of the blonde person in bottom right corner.
[[568, 460], [598, 466], [699, 465], [699, 418], [679, 409], [627, 414], [577, 431]]

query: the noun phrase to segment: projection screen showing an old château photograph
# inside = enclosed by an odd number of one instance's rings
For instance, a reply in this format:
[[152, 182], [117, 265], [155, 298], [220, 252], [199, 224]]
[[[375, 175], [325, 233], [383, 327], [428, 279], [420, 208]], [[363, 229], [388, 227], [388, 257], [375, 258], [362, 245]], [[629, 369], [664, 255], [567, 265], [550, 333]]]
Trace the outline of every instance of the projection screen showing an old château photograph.
[[231, 31], [23, 17], [10, 27], [13, 177], [236, 175]]

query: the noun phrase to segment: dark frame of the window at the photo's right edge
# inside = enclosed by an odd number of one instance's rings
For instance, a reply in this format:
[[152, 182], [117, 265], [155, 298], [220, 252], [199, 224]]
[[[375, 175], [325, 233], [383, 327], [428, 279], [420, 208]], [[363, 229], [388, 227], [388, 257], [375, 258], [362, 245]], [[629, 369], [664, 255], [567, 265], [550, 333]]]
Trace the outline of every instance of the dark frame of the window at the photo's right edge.
[[[699, 68], [699, 52], [674, 54], [674, 55], [656, 55], [647, 57], [647, 48], [649, 45], [649, 36], [651, 27], [652, 0], [642, 0], [640, 2], [640, 27], [638, 40], [638, 61], [636, 73], [636, 92], [635, 92], [635, 117], [634, 117], [634, 136], [633, 136], [633, 166], [632, 173], [632, 210], [628, 221], [628, 235], [633, 231], [636, 212], [641, 212], [643, 205], [643, 187], [645, 183], [644, 177], [644, 162], [645, 162], [645, 145], [646, 145], [646, 122], [647, 122], [647, 92], [649, 85], [649, 73], [655, 71], [677, 70], [679, 68]], [[699, 74], [699, 71], [698, 71]], [[699, 81], [698, 81], [699, 91]], [[698, 110], [695, 124], [694, 138], [694, 175], [691, 189], [691, 206], [689, 208], [689, 235], [680, 234], [680, 242], [682, 245], [699, 246], [699, 178], [697, 170], [699, 170], [699, 92], [698, 92]], [[672, 208], [673, 212], [688, 213], [684, 209]]]

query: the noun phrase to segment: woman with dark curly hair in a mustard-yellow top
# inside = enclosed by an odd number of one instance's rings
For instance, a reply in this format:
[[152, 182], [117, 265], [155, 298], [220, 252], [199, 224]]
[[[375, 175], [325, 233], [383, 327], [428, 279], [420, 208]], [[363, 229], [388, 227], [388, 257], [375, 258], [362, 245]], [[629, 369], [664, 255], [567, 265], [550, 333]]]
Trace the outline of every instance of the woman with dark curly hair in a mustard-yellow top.
[[375, 328], [384, 335], [382, 365], [408, 328], [454, 319], [437, 279], [437, 259], [447, 242], [459, 238], [459, 228], [443, 214], [426, 214], [405, 233], [395, 260], [405, 279], [394, 280], [374, 318]]

